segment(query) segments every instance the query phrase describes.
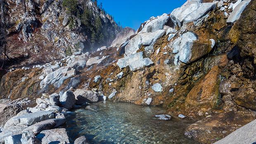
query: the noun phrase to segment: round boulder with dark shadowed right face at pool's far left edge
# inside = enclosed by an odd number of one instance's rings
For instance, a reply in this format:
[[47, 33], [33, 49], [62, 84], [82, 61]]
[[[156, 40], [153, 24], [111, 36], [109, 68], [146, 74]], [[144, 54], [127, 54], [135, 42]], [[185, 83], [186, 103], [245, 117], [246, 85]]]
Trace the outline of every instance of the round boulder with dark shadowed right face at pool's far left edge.
[[76, 98], [73, 92], [69, 90], [59, 97], [59, 101], [62, 107], [71, 109], [76, 103]]

